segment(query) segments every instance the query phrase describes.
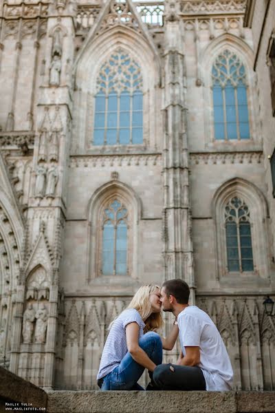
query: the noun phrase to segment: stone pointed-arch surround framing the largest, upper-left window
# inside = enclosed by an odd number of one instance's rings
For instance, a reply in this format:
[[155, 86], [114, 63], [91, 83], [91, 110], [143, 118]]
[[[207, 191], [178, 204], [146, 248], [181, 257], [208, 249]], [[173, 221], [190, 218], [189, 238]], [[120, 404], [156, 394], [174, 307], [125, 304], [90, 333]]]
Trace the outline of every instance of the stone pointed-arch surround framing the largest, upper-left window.
[[[160, 136], [160, 125], [157, 122], [155, 111], [160, 98], [161, 65], [157, 52], [138, 31], [133, 31], [124, 25], [114, 25], [102, 34], [94, 36], [91, 43], [87, 43], [80, 53], [78, 63], [74, 69], [76, 92], [74, 94], [74, 131], [73, 140], [80, 153], [94, 153], [98, 146], [94, 146], [94, 116], [96, 80], [100, 67], [111, 54], [121, 48], [139, 65], [142, 75], [143, 98], [143, 142], [124, 144], [117, 142], [116, 149], [128, 145], [135, 147], [155, 147], [156, 137]], [[102, 145], [104, 148], [104, 145]]]

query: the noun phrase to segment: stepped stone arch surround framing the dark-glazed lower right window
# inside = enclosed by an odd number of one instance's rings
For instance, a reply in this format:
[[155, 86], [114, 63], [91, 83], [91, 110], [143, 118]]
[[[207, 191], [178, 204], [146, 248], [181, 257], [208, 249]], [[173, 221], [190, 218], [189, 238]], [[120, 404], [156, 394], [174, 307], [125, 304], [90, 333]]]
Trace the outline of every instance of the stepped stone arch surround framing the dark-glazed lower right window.
[[[228, 246], [228, 229], [227, 229], [227, 212], [226, 208], [230, 202], [234, 203], [234, 200], [240, 200], [243, 205], [245, 205], [245, 214], [248, 215], [248, 219], [245, 219], [244, 224], [248, 224], [250, 226], [250, 231], [247, 233], [247, 229], [243, 229], [246, 235], [250, 237], [251, 245], [250, 248], [253, 254], [253, 262], [254, 268], [252, 270], [251, 265], [245, 267], [242, 270], [241, 264], [240, 269], [229, 268], [230, 266], [228, 261], [228, 254], [229, 251], [226, 250], [226, 246]], [[252, 184], [248, 180], [244, 180], [243, 178], [232, 178], [224, 182], [219, 189], [217, 189], [216, 193], [214, 193], [214, 197], [212, 199], [212, 215], [214, 217], [214, 223], [216, 227], [216, 241], [217, 241], [217, 271], [219, 277], [228, 277], [236, 276], [240, 273], [242, 276], [254, 276], [255, 280], [258, 280], [259, 283], [261, 279], [268, 279], [269, 277], [269, 266], [268, 266], [268, 243], [267, 243], [267, 218], [268, 218], [268, 211], [267, 211], [267, 202], [263, 193], [260, 191], [256, 185]], [[241, 216], [241, 215], [239, 215]], [[236, 233], [234, 232], [234, 237], [236, 237], [236, 247], [239, 250], [239, 258], [241, 260], [241, 248], [245, 248], [244, 244], [246, 238], [242, 244], [241, 238], [243, 235], [243, 231]], [[246, 237], [245, 235], [245, 237]], [[238, 241], [239, 240], [239, 241]], [[248, 240], [249, 241], [249, 240]], [[230, 239], [231, 242], [231, 239]], [[237, 244], [239, 246], [237, 246]], [[242, 246], [243, 245], [243, 246]], [[251, 255], [251, 252], [246, 251], [243, 249], [243, 253]], [[233, 254], [234, 255], [234, 254]], [[235, 255], [238, 255], [235, 253]], [[244, 257], [244, 255], [243, 255]], [[245, 257], [246, 258], [246, 257]], [[243, 260], [245, 260], [243, 258]], [[239, 268], [239, 267], [238, 267]], [[245, 269], [249, 268], [249, 269]], [[244, 271], [244, 272], [243, 272]]]

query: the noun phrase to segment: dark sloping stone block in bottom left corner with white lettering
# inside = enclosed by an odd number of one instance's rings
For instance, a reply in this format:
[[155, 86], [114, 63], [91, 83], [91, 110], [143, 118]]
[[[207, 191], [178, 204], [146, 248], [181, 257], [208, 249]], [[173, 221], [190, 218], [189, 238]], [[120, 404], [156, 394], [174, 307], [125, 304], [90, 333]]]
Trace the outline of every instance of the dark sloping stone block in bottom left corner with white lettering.
[[47, 393], [30, 381], [25, 381], [0, 367], [1, 399], [16, 403], [32, 403], [32, 407], [46, 407]]

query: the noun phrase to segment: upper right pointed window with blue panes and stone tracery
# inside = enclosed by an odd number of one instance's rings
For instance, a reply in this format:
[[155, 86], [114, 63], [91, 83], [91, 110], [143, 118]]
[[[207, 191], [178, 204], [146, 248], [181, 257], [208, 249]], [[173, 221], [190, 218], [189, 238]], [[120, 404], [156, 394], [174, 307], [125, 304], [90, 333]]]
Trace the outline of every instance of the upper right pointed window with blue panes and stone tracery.
[[245, 67], [230, 50], [219, 54], [212, 66], [214, 138], [249, 139], [248, 96]]

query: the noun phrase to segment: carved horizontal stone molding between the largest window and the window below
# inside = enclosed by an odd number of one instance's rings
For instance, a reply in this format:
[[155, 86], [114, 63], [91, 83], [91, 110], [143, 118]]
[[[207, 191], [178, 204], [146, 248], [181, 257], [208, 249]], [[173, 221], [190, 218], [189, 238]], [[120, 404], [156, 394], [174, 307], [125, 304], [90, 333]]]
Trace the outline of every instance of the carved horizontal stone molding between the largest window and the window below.
[[162, 155], [102, 155], [102, 156], [72, 156], [70, 168], [91, 167], [122, 167], [122, 166], [162, 166]]

